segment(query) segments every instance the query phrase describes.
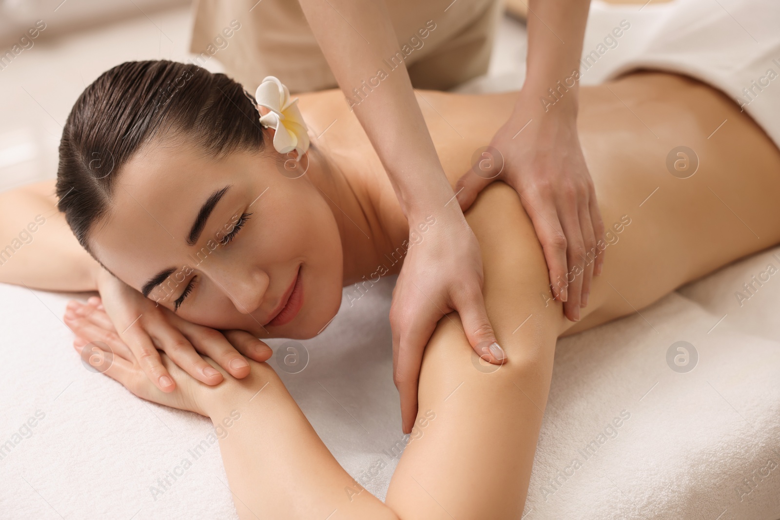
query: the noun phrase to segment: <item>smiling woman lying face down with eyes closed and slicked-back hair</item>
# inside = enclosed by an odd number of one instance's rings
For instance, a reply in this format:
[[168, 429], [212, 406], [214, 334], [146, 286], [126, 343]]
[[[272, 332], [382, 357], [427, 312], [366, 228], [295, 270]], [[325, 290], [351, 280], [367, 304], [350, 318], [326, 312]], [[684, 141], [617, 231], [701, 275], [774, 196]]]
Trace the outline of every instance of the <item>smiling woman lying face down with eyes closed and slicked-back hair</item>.
[[[396, 267], [385, 255], [420, 223], [403, 218], [339, 94], [307, 96], [304, 114], [317, 135], [338, 122], [327, 146], [307, 154], [306, 175], [291, 179], [296, 175], [282, 162], [289, 157], [261, 145], [256, 111], [240, 87], [193, 70], [180, 90], [167, 89], [183, 66], [124, 64], [87, 89], [66, 125], [59, 208], [97, 260], [133, 288], [146, 286], [161, 305], [173, 310], [179, 301], [181, 317], [258, 335], [317, 334], [338, 310], [342, 284], [370, 278], [381, 264]], [[122, 74], [126, 80], [115, 77]], [[212, 84], [218, 88], [209, 90]], [[436, 105], [424, 110], [427, 124], [454, 182], [495, 133], [512, 97], [426, 97]], [[709, 139], [724, 119], [729, 124]], [[344, 126], [335, 132], [335, 125]], [[422, 368], [419, 393], [405, 403], [412, 411], [405, 430], [417, 419], [418, 395], [420, 416], [431, 410], [435, 420], [406, 447], [385, 504], [339, 466], [264, 363], [250, 363], [243, 379], [224, 374], [221, 384], [207, 387], [163, 356], [177, 383], [163, 393], [113, 338], [118, 357], [107, 375], [215, 423], [242, 410], [241, 422], [220, 440], [241, 518], [327, 518], [335, 510], [339, 518], [519, 518], [556, 339], [642, 310], [780, 242], [780, 152], [718, 91], [665, 73], [631, 74], [583, 88], [580, 126], [605, 223], [619, 233], [583, 319], [573, 324], [551, 299], [544, 254], [517, 193], [501, 182], [489, 186], [466, 219], [480, 240], [484, 299], [507, 361], [500, 370], [486, 368], [456, 313], [439, 321], [422, 359], [406, 361]], [[706, 175], [680, 179], [665, 169], [669, 150], [681, 142], [697, 150]], [[207, 201], [211, 213], [196, 226]], [[172, 282], [152, 288], [160, 272]], [[77, 347], [99, 339], [90, 320], [111, 326], [99, 309], [69, 320], [81, 337]]]

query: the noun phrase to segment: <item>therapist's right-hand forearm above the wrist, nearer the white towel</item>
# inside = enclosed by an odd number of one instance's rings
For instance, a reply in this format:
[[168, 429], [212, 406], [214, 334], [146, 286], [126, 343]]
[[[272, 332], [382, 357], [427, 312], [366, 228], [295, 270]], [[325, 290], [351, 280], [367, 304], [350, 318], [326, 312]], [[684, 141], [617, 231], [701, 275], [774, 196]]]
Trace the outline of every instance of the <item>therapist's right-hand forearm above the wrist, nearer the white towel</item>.
[[551, 97], [552, 89], [556, 113], [576, 116], [580, 83], [573, 73], [580, 70], [589, 7], [590, 0], [529, 0], [527, 75], [521, 97], [539, 103], [541, 97]]

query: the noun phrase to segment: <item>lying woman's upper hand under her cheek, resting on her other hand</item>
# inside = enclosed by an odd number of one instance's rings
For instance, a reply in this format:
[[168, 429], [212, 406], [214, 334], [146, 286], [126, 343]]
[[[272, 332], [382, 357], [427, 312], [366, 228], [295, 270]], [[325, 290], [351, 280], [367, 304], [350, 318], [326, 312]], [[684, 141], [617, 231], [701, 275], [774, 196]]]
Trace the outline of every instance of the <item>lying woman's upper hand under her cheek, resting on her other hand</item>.
[[[158, 349], [168, 354], [186, 373], [205, 384], [220, 383], [222, 374], [206, 363], [200, 354], [214, 359], [237, 378], [246, 377], [250, 370], [249, 363], [241, 354], [256, 361], [270, 357], [268, 345], [252, 334], [246, 331], [224, 331], [223, 334], [183, 320], [151, 299], [144, 298], [108, 271], [101, 270], [97, 275], [97, 289], [101, 299], [94, 297], [95, 303], [101, 304], [110, 318], [108, 323], [103, 324], [102, 333], [110, 336], [107, 340], [119, 338], [128, 345], [144, 373], [161, 391], [173, 391], [176, 384], [165, 369]], [[69, 302], [66, 324], [79, 316], [78, 309], [84, 312], [89, 308]]]

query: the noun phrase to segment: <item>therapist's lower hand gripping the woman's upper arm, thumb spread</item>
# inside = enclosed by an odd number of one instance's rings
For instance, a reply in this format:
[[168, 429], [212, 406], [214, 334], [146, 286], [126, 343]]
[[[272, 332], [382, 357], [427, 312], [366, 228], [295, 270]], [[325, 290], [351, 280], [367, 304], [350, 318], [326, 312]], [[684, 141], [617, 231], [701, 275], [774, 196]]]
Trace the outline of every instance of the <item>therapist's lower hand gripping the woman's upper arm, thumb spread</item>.
[[[410, 246], [392, 293], [393, 380], [401, 400], [402, 430], [410, 433], [417, 418], [417, 381], [423, 351], [444, 314], [457, 311], [477, 356], [501, 364], [505, 354], [495, 340], [482, 296], [480, 245], [455, 200], [425, 218], [409, 218]], [[424, 234], [420, 233], [424, 225]]]

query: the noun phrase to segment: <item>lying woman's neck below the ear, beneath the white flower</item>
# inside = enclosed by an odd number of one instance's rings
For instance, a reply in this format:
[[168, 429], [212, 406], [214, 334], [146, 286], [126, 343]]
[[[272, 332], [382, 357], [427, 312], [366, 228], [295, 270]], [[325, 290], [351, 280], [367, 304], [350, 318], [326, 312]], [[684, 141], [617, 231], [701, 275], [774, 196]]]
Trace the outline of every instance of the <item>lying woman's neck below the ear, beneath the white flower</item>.
[[409, 231], [400, 207], [378, 211], [378, 186], [360, 175], [349, 175], [328, 156], [327, 150], [311, 147], [308, 156], [306, 175], [328, 203], [339, 226], [343, 284], [371, 278], [375, 282], [377, 275], [397, 274], [406, 253], [402, 243]]

